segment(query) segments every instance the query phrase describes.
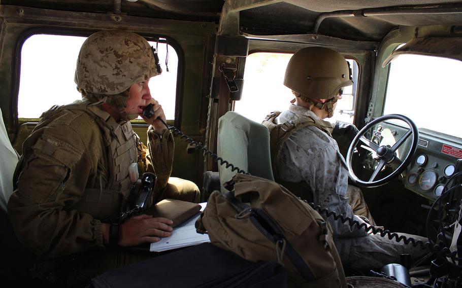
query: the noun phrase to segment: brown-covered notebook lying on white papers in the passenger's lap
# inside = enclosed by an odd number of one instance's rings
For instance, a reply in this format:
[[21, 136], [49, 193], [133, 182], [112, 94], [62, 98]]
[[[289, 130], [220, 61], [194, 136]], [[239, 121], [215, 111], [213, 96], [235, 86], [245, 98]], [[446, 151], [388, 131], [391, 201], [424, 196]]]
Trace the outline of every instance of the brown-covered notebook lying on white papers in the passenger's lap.
[[176, 199], [164, 199], [146, 209], [145, 214], [153, 217], [168, 218], [175, 227], [188, 220], [201, 210], [201, 205]]

